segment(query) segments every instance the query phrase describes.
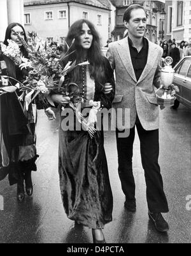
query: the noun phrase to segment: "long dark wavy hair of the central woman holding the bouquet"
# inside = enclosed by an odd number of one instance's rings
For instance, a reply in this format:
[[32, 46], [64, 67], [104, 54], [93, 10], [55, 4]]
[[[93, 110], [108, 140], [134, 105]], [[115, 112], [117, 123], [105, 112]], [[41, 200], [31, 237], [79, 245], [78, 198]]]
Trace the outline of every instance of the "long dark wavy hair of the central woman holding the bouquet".
[[[102, 83], [104, 81], [104, 57], [103, 53], [101, 52], [100, 38], [99, 34], [95, 30], [94, 25], [88, 20], [78, 20], [74, 22], [73, 25], [71, 25], [69, 32], [67, 34], [66, 43], [67, 45], [71, 46], [68, 53], [71, 53], [73, 51], [75, 52], [69, 55], [69, 57], [64, 60], [64, 65], [69, 60], [76, 60], [76, 64], [79, 64], [84, 61], [85, 56], [83, 55], [83, 48], [80, 45], [81, 29], [84, 23], [88, 25], [93, 36], [92, 46], [90, 47], [90, 49], [88, 49], [87, 52], [87, 59], [90, 62], [90, 76], [91, 78], [94, 78], [94, 80], [96, 80], [97, 82]], [[72, 72], [72, 77], [73, 82], [78, 82], [81, 79], [80, 67], [74, 69], [74, 71]]]

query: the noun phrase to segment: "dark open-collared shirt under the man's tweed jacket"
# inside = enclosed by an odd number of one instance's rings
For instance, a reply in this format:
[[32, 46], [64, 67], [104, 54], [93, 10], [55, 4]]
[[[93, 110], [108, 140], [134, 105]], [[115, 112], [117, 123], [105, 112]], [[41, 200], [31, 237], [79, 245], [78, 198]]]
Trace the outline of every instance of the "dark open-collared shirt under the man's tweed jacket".
[[148, 41], [146, 38], [143, 38], [143, 47], [138, 52], [138, 50], [132, 46], [132, 41], [128, 37], [129, 41], [129, 50], [131, 54], [131, 61], [132, 66], [134, 68], [134, 73], [136, 75], [137, 81], [139, 80], [139, 77], [143, 73], [143, 70], [145, 69], [147, 57], [148, 57]]

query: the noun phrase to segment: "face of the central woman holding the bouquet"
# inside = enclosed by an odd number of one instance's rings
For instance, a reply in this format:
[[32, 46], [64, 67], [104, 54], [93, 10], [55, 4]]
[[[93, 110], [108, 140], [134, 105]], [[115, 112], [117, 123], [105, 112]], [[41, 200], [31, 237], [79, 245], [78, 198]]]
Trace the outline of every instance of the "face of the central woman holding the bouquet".
[[83, 49], [88, 50], [92, 46], [92, 41], [93, 41], [92, 31], [90, 30], [90, 28], [86, 23], [83, 23], [81, 34], [80, 34], [80, 46]]

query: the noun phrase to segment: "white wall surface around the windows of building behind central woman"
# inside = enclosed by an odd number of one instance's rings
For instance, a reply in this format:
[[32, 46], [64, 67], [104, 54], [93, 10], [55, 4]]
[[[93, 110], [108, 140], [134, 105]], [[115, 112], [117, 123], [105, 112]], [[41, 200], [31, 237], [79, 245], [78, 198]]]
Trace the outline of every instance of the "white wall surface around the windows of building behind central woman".
[[[58, 18], [59, 10], [67, 11], [66, 19]], [[59, 41], [60, 37], [67, 36], [69, 29], [68, 22], [72, 25], [76, 20], [83, 18], [83, 11], [87, 11], [88, 20], [95, 25], [101, 36], [102, 44], [106, 45], [106, 41], [108, 40], [109, 10], [78, 3], [69, 3], [69, 10], [70, 21], [68, 20], [67, 3], [25, 6], [24, 13], [31, 13], [31, 24], [25, 25], [25, 30], [38, 32], [39, 37], [42, 39], [53, 37], [54, 41]], [[45, 20], [45, 11], [53, 11], [53, 20]], [[97, 15], [99, 14], [102, 15], [102, 25], [97, 25]]]

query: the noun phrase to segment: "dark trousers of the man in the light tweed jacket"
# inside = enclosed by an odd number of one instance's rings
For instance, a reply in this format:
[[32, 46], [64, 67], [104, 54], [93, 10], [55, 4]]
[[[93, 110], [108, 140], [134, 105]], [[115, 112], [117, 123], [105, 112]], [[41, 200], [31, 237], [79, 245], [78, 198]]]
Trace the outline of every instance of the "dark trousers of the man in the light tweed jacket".
[[[146, 199], [148, 209], [153, 213], [169, 211], [164, 194], [162, 176], [160, 174], [159, 159], [159, 129], [146, 131], [139, 119], [136, 128], [141, 145], [141, 162], [145, 171]], [[117, 135], [118, 174], [122, 183], [122, 190], [127, 201], [135, 201], [135, 183], [132, 173], [132, 150], [135, 136], [135, 127], [130, 130], [129, 137], [119, 138]]]

